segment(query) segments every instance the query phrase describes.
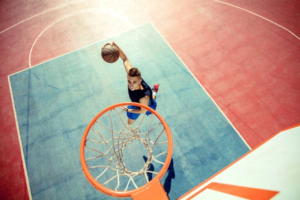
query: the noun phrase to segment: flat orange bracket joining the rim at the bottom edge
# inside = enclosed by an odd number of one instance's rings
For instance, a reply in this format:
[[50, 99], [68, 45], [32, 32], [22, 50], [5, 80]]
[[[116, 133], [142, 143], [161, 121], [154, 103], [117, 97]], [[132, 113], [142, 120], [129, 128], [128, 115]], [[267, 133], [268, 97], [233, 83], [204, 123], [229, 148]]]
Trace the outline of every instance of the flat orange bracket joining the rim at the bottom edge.
[[144, 190], [141, 190], [137, 193], [132, 193], [130, 196], [133, 200], [169, 199], [164, 191], [162, 184], [159, 182], [159, 179]]

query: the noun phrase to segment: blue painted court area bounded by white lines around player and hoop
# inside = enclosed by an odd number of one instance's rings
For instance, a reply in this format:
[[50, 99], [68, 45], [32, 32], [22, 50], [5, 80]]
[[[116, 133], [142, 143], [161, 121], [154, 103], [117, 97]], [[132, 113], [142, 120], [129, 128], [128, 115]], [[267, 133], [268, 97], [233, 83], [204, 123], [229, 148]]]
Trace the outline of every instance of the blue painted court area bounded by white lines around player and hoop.
[[102, 44], [111, 39], [149, 85], [160, 83], [157, 111], [169, 124], [174, 142], [173, 168], [161, 180], [170, 199], [248, 151], [184, 64], [146, 23], [30, 68], [30, 85], [28, 70], [10, 76], [23, 151], [28, 149], [33, 199], [107, 199], [82, 174], [79, 144], [97, 112], [129, 101], [122, 62], [108, 64], [99, 56]]

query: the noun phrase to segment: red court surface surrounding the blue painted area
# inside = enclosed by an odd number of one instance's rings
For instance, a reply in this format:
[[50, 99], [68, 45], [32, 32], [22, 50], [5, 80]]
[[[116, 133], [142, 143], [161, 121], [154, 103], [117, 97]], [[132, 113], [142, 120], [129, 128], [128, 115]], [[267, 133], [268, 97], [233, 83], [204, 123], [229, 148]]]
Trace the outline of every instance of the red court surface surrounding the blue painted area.
[[[297, 0], [225, 2], [300, 35]], [[214, 0], [16, 0], [1, 2], [0, 10], [4, 199], [28, 199], [7, 76], [144, 22], [157, 28], [250, 147], [300, 122], [299, 38], [237, 7]]]

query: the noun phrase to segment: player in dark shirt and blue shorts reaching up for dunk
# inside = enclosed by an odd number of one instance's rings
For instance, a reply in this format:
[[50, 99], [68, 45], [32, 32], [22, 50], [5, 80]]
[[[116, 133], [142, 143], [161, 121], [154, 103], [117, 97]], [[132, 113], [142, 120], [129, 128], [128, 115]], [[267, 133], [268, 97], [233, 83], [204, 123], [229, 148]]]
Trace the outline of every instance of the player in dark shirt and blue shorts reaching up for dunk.
[[[152, 93], [152, 90], [149, 87], [149, 85], [141, 78], [140, 71], [137, 68], [131, 66], [124, 51], [116, 43], [114, 43], [114, 41], [109, 41], [105, 43], [102, 46], [101, 50], [106, 44], [110, 44], [111, 46], [114, 45], [119, 50], [119, 57], [123, 60], [124, 67], [127, 72], [128, 93], [131, 101], [148, 105], [149, 107], [155, 110], [156, 109], [155, 99], [156, 99], [156, 94], [158, 91], [159, 84], [155, 83], [153, 85], [152, 88], [153, 93]], [[142, 107], [137, 107], [133, 105], [128, 105], [127, 107], [120, 106], [120, 108], [123, 111], [127, 112], [129, 125], [132, 124], [137, 119], [140, 113], [146, 112], [146, 115], [151, 114], [150, 111], [147, 111]]]

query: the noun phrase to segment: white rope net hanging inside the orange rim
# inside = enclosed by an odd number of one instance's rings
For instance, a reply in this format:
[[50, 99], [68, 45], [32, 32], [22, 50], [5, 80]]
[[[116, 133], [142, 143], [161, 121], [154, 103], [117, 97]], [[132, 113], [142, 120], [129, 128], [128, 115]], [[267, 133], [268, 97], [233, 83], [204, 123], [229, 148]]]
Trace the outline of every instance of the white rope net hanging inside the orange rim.
[[167, 154], [167, 136], [154, 115], [141, 114], [131, 127], [119, 107], [101, 115], [86, 137], [84, 156], [92, 176], [116, 191], [138, 188], [155, 176]]

